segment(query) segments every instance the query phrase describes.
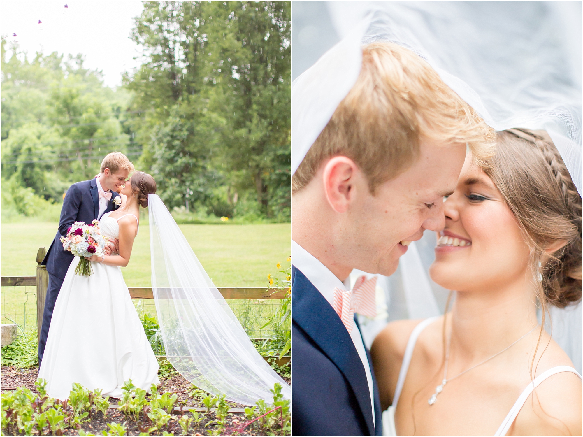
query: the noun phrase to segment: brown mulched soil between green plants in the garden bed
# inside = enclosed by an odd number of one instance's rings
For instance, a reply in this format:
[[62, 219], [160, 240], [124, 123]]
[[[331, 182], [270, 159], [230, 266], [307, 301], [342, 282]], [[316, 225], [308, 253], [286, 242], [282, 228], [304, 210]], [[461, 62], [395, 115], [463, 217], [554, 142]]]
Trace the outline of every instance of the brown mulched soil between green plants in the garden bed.
[[[17, 369], [12, 366], [2, 366], [1, 368], [1, 389], [2, 393], [8, 392], [9, 390], [15, 390], [17, 387], [24, 386], [31, 390], [33, 393], [38, 393], [36, 387], [34, 386], [34, 382], [37, 379], [38, 367], [33, 367], [29, 369]], [[283, 378], [286, 380], [287, 383], [290, 383], [290, 378]], [[158, 386], [158, 392], [171, 392], [178, 396], [178, 401], [176, 403], [177, 408], [205, 408], [204, 404], [202, 403], [202, 398], [206, 396], [206, 392], [202, 392], [202, 390], [196, 390], [196, 388], [192, 385], [192, 383], [188, 382], [184, 379], [180, 374], [173, 373], [169, 378], [160, 378], [160, 385]], [[266, 399], [267, 400], [267, 399]], [[112, 406], [117, 406], [117, 399], [110, 398], [110, 404]], [[229, 402], [229, 407], [233, 410], [241, 409], [243, 410], [245, 405], [236, 404], [233, 402]], [[186, 410], [185, 410], [186, 411]], [[191, 413], [185, 412], [183, 414], [192, 417]], [[198, 412], [199, 421], [198, 426], [195, 424], [194, 420], [191, 422], [191, 426], [188, 429], [188, 434], [186, 435], [194, 435], [194, 436], [202, 436], [202, 435], [209, 435], [209, 431], [216, 429], [217, 426], [209, 422], [212, 422], [217, 419], [215, 413], [210, 411], [210, 413], [206, 413], [205, 411]], [[171, 420], [167, 424], [167, 428], [164, 431], [174, 432], [174, 435], [184, 435], [182, 434], [182, 428], [178, 424], [178, 419], [180, 418], [181, 413], [178, 410], [174, 411], [174, 415], [172, 416]], [[143, 417], [142, 421], [144, 420]], [[82, 428], [85, 432], [95, 435], [101, 435], [101, 431], [109, 429], [107, 427], [108, 423], [117, 422], [117, 423], [124, 423], [126, 422], [125, 426], [128, 427], [127, 435], [139, 435], [140, 430], [138, 429], [138, 424], [142, 427], [149, 428], [153, 425], [147, 423], [148, 419], [146, 418], [145, 422], [136, 422], [132, 418], [128, 417], [125, 418], [124, 414], [120, 411], [115, 410], [114, 408], [110, 408], [107, 412], [107, 417], [104, 417], [103, 414], [97, 412], [93, 414], [91, 420], [88, 420], [83, 423]], [[222, 435], [231, 435], [233, 431], [239, 429], [237, 435], [250, 435], [250, 436], [258, 436], [258, 435], [267, 435], [265, 431], [259, 429], [258, 421], [253, 422], [252, 424], [248, 425], [244, 429], [240, 429], [242, 425], [248, 422], [247, 418], [245, 418], [245, 414], [243, 412], [233, 412], [227, 415], [227, 427], [224, 429]], [[206, 426], [208, 424], [208, 426]], [[3, 435], [5, 434], [6, 430], [2, 429]], [[38, 431], [33, 431], [38, 434]], [[46, 432], [46, 431], [45, 431]], [[157, 432], [152, 433], [152, 435], [156, 435]], [[63, 435], [79, 435], [78, 430], [66, 429]], [[161, 432], [160, 432], [161, 435]]]

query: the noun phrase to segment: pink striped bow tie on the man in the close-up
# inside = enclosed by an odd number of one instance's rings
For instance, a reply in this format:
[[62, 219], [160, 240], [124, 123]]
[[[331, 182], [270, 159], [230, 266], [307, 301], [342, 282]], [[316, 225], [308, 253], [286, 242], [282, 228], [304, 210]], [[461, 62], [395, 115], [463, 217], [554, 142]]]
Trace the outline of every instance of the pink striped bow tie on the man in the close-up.
[[377, 277], [369, 280], [366, 276], [361, 276], [354, 283], [350, 291], [334, 288], [334, 304], [332, 307], [338, 314], [348, 332], [352, 332], [354, 327], [354, 313], [364, 316], [377, 316], [377, 303], [375, 289], [377, 287]]

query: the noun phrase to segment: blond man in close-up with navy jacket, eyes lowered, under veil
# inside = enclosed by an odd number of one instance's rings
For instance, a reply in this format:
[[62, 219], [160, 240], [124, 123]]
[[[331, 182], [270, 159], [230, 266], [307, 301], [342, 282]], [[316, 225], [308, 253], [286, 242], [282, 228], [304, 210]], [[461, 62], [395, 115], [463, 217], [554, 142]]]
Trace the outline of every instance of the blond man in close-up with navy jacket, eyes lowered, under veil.
[[346, 292], [349, 274], [388, 276], [411, 241], [440, 231], [466, 149], [486, 160], [493, 131], [429, 64], [391, 43], [363, 48], [356, 84], [330, 115], [292, 178], [292, 434], [382, 435], [352, 318], [367, 302]]

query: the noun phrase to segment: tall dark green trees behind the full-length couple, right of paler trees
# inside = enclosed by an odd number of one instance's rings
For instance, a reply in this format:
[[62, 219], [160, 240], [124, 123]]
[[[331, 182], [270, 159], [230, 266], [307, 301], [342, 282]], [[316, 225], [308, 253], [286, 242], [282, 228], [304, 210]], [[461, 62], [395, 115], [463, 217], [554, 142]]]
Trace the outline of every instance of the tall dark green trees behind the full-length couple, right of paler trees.
[[[289, 2], [144, 2], [124, 77], [139, 164], [171, 208], [289, 220]], [[146, 108], [143, 112], [138, 112]]]

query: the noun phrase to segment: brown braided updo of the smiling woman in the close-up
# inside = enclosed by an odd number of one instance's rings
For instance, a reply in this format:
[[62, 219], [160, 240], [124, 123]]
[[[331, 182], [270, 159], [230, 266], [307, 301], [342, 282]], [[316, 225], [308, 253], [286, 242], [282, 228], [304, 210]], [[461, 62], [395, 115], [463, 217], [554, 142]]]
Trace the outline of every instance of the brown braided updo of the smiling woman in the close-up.
[[[543, 314], [581, 299], [581, 196], [546, 131], [497, 133], [484, 172], [502, 193], [531, 247], [530, 265]], [[547, 253], [557, 242], [566, 244]]]

